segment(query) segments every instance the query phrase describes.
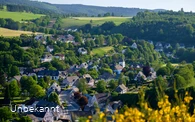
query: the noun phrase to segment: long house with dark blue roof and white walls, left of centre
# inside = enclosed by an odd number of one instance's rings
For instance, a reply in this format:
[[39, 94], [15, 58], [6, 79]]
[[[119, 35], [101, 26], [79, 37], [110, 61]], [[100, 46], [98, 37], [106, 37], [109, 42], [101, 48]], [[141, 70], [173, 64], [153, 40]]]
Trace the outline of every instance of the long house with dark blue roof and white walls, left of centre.
[[52, 80], [59, 79], [59, 71], [57, 70], [42, 70], [37, 73], [38, 78], [43, 78], [44, 76], [50, 76]]

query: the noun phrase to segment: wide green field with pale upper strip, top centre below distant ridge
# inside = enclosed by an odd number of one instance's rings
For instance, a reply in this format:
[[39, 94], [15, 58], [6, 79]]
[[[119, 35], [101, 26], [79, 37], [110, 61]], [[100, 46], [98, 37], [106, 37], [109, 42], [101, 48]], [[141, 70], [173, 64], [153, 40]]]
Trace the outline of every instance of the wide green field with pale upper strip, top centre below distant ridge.
[[130, 17], [73, 17], [73, 18], [66, 18], [63, 19], [63, 27], [70, 28], [70, 27], [79, 27], [85, 24], [90, 23], [92, 21], [93, 26], [101, 25], [106, 21], [113, 21], [116, 25], [119, 25], [123, 22], [129, 21]]

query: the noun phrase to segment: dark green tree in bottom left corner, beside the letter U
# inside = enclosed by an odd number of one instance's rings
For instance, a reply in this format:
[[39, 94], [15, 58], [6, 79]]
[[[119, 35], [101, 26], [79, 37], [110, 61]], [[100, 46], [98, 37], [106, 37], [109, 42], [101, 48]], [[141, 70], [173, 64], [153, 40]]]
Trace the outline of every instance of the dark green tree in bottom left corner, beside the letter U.
[[0, 108], [0, 121], [7, 121], [12, 119], [12, 112], [9, 107]]

